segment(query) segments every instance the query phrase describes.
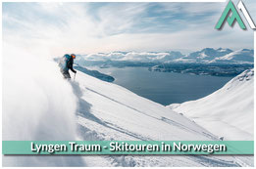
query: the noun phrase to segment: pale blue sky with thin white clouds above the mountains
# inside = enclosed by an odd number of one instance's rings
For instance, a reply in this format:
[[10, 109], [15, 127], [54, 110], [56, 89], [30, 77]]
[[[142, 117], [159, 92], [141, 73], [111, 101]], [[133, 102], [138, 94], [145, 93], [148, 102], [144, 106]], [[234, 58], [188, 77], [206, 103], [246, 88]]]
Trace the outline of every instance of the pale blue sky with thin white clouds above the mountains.
[[[256, 20], [253, 1], [244, 3]], [[226, 24], [222, 31], [214, 28], [225, 6], [226, 3], [3, 3], [3, 39], [55, 53], [253, 48], [253, 31], [245, 19], [247, 31], [237, 23], [233, 28]]]

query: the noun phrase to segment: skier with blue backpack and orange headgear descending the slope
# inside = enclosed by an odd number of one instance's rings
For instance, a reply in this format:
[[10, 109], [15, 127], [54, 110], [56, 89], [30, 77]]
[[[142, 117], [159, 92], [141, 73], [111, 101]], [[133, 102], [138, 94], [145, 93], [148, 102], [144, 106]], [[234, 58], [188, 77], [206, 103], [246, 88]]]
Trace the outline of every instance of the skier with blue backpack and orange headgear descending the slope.
[[66, 78], [66, 79], [71, 78], [69, 69], [71, 69], [75, 74], [77, 73], [77, 71], [73, 68], [73, 63], [74, 63], [75, 59], [76, 59], [75, 54], [71, 54], [71, 55], [66, 54], [60, 60], [59, 66], [61, 67], [61, 72], [62, 72], [64, 78]]

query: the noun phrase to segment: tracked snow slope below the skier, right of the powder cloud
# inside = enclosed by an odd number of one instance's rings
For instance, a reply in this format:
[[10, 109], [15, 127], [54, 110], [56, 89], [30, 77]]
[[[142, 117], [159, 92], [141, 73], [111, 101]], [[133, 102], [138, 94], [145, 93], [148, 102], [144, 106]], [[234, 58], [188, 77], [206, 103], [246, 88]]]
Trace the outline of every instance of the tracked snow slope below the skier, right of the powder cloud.
[[[188, 118], [116, 84], [77, 72], [81, 140], [218, 140]], [[246, 166], [248, 156], [110, 155], [86, 157], [88, 166]]]

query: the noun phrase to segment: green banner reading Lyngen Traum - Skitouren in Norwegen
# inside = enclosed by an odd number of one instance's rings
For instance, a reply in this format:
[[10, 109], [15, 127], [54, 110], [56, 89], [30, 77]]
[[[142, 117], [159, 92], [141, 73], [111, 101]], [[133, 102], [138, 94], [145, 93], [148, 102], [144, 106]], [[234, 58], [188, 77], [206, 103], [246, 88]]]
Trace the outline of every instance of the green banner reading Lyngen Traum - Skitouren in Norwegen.
[[3, 154], [253, 154], [253, 141], [2, 141]]

